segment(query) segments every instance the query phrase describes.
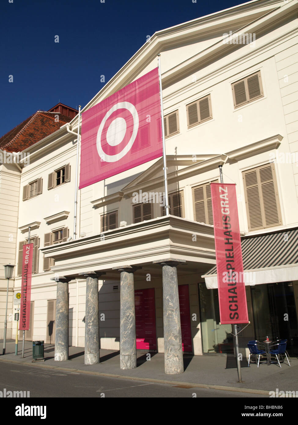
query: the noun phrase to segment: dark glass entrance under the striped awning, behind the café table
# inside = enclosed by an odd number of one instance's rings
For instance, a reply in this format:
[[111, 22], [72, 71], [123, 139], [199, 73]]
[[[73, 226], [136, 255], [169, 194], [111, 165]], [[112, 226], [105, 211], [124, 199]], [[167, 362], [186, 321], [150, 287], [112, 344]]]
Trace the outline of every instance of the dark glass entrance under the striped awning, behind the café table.
[[255, 338], [286, 339], [289, 355], [298, 355], [298, 328], [292, 282], [251, 286]]

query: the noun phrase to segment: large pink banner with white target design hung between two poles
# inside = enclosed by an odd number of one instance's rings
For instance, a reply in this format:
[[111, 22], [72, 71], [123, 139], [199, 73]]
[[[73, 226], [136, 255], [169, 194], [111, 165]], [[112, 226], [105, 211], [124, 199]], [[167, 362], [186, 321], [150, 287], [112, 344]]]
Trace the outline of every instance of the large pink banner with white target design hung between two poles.
[[79, 189], [161, 156], [158, 68], [82, 113]]

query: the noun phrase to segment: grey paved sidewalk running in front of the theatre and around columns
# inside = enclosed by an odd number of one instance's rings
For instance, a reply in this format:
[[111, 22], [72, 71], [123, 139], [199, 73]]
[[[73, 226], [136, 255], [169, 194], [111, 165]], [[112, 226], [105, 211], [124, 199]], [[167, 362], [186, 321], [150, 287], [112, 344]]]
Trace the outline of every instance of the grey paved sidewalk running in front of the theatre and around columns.
[[[2, 342], [0, 348], [2, 352]], [[108, 375], [113, 377], [125, 377], [127, 379], [150, 380], [153, 382], [170, 382], [180, 385], [197, 387], [209, 387], [217, 389], [229, 389], [230, 391], [250, 392], [268, 396], [269, 391], [298, 391], [298, 359], [292, 357], [290, 367], [281, 363], [281, 368], [276, 364], [255, 363], [247, 367], [247, 362], [241, 362], [241, 374], [243, 383], [239, 383], [236, 361], [234, 357], [224, 355], [192, 356], [186, 354], [184, 358], [184, 373], [167, 375], [164, 371], [164, 354], [150, 353], [151, 360], [146, 360], [146, 351], [137, 351], [136, 369], [121, 370], [119, 351], [100, 350], [100, 363], [96, 365], [84, 364], [84, 348], [69, 347], [69, 360], [63, 362], [54, 361], [54, 345], [45, 344], [45, 361], [32, 363], [32, 342], [25, 342], [24, 358], [21, 358], [22, 342], [19, 343], [18, 355], [14, 355], [15, 342], [6, 342], [5, 356], [0, 355], [0, 361], [17, 362], [26, 365], [51, 368], [66, 368], [81, 371], [86, 374]]]

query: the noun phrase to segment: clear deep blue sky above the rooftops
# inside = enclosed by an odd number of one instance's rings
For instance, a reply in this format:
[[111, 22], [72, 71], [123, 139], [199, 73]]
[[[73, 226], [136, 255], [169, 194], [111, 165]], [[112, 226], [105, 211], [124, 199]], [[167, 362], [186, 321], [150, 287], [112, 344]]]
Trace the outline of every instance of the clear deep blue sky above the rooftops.
[[59, 101], [85, 106], [105, 84], [100, 76], [108, 82], [147, 35], [244, 3], [101, 1], [1, 1], [0, 136]]

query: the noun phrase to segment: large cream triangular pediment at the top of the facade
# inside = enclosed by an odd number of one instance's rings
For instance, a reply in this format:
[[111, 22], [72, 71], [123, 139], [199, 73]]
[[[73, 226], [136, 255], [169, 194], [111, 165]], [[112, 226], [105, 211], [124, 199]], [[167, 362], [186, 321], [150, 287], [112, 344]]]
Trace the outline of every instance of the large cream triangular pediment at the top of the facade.
[[[216, 13], [199, 17], [186, 23], [157, 31], [111, 78], [99, 93], [82, 108], [82, 112], [111, 96], [133, 80], [157, 66], [157, 54], [170, 54], [170, 60], [162, 64], [162, 85], [168, 85], [181, 78], [189, 69], [207, 64], [237, 48], [222, 42], [223, 34], [232, 31], [254, 32], [276, 25], [279, 16], [293, 12], [294, 2], [284, 0], [258, 0], [244, 3]], [[296, 2], [297, 3], [297, 2]], [[293, 10], [292, 10], [293, 9]], [[176, 50], [180, 51], [177, 54]], [[75, 123], [75, 117], [72, 122]], [[75, 127], [75, 124], [74, 124]]]

